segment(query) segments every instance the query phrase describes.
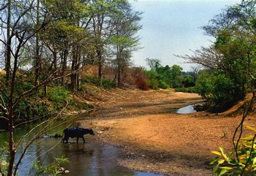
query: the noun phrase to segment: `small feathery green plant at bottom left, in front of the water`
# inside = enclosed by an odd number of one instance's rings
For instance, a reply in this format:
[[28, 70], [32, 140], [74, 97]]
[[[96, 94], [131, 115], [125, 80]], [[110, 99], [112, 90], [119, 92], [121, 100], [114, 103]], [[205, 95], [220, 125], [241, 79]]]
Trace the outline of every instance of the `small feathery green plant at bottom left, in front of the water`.
[[42, 166], [39, 161], [35, 161], [33, 162], [30, 173], [33, 173], [34, 175], [40, 175], [44, 173], [47, 173], [48, 175], [59, 175], [63, 173], [60, 168], [62, 168], [62, 165], [65, 163], [69, 163], [69, 160], [64, 156], [55, 158], [55, 161], [47, 166]]

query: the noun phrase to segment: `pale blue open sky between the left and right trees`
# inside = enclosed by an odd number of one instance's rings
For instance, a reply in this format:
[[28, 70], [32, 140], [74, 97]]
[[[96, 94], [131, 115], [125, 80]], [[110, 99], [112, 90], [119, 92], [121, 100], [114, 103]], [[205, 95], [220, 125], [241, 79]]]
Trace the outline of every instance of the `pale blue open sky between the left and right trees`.
[[138, 32], [143, 47], [133, 53], [133, 63], [146, 67], [146, 58], [157, 58], [161, 65], [174, 64], [190, 71], [191, 64], [176, 55], [192, 54], [190, 50], [208, 46], [213, 38], [206, 36], [201, 26], [221, 12], [226, 5], [239, 3], [238, 0], [130, 0], [134, 10], [144, 12]]

